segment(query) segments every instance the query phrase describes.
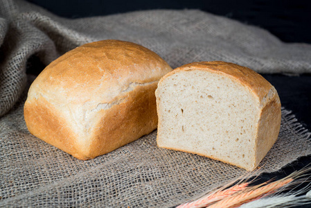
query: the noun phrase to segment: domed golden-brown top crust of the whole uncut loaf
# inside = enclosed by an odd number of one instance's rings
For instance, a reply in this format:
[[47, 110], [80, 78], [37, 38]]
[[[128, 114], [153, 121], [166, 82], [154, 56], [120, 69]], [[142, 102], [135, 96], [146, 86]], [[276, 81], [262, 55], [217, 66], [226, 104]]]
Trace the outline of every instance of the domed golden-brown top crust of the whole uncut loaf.
[[143, 46], [103, 40], [79, 46], [51, 62], [30, 91], [53, 94], [58, 100], [71, 98], [72, 103], [90, 100], [109, 103], [130, 83], [157, 81], [171, 70], [157, 53]]

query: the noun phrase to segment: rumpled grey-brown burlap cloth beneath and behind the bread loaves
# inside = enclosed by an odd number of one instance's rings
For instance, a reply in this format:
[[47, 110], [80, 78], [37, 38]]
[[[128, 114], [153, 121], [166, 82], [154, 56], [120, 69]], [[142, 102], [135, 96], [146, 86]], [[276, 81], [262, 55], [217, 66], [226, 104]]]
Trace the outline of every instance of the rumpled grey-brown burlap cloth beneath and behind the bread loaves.
[[[173, 68], [224, 60], [260, 73], [311, 72], [310, 45], [285, 44], [260, 28], [199, 10], [64, 19], [25, 1], [2, 0], [1, 207], [172, 207], [245, 173], [206, 157], [159, 149], [156, 131], [89, 161], [30, 135], [23, 116], [30, 56], [48, 64], [75, 46], [103, 39], [142, 44]], [[310, 132], [289, 111], [282, 115], [278, 141], [258, 173], [311, 153]]]

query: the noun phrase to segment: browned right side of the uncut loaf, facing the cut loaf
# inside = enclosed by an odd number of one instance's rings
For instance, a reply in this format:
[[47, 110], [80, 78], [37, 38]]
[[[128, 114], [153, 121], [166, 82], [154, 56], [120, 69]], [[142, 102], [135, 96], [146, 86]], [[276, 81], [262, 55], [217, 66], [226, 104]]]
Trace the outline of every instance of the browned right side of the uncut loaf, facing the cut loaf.
[[91, 138], [89, 157], [109, 153], [157, 128], [157, 106], [154, 91], [157, 83], [137, 87], [127, 101], [114, 105], [96, 124]]

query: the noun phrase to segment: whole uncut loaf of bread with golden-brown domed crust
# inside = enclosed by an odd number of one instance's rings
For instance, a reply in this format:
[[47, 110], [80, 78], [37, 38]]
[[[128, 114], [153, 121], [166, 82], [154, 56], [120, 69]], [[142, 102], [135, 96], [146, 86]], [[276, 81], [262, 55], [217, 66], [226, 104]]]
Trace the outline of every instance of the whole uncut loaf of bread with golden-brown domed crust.
[[30, 86], [31, 134], [78, 159], [91, 159], [157, 128], [154, 95], [172, 68], [143, 46], [93, 42], [51, 62]]

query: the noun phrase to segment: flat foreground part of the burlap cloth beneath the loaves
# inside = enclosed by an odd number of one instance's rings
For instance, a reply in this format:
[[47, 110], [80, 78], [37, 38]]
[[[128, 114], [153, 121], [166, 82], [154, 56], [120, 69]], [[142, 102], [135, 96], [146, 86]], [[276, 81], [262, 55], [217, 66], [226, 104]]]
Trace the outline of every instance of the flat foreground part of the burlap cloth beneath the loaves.
[[[157, 131], [112, 153], [75, 159], [30, 135], [23, 99], [0, 119], [0, 207], [173, 207], [246, 171], [157, 147]], [[310, 132], [282, 110], [281, 132], [260, 171], [311, 154]]]

